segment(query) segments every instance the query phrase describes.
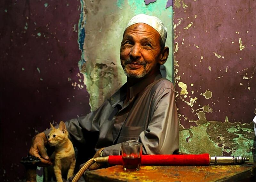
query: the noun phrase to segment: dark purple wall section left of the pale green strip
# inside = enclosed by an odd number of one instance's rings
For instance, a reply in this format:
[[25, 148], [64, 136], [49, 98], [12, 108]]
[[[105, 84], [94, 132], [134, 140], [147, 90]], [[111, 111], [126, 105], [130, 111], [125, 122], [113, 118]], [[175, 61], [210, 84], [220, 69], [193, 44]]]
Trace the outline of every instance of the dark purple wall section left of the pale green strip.
[[[1, 178], [24, 179], [22, 156], [49, 122], [90, 111], [77, 73], [80, 1], [1, 3]], [[68, 81], [68, 78], [69, 81]], [[83, 85], [83, 83], [80, 83]]]

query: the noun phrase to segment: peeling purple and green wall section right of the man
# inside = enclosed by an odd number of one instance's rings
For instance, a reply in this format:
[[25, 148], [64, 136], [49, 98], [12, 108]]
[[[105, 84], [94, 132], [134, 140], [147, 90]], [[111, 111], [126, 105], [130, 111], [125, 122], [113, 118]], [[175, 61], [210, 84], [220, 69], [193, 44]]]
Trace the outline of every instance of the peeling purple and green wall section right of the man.
[[174, 0], [181, 152], [253, 161], [255, 8], [253, 0]]

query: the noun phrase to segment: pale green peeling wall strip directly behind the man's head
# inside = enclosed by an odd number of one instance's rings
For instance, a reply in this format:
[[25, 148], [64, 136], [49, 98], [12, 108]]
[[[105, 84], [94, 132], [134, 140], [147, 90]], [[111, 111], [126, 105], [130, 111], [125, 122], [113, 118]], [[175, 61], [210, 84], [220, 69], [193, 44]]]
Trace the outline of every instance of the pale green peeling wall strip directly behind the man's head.
[[[166, 7], [168, 1], [144, 0], [81, 0], [81, 4], [80, 32], [85, 36], [79, 68], [90, 94], [91, 110], [95, 110], [126, 82], [119, 53], [129, 19], [140, 13], [162, 19], [168, 28], [166, 45], [172, 50], [172, 7]], [[173, 80], [172, 63], [170, 55], [165, 64], [169, 80]]]

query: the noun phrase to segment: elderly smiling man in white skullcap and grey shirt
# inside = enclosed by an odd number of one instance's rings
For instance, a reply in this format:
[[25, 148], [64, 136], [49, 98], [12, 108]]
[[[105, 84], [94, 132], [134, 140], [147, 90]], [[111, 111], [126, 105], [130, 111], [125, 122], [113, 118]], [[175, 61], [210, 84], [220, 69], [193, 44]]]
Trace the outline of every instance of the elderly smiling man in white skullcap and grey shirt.
[[[120, 49], [127, 83], [97, 110], [66, 122], [78, 151], [93, 148], [94, 157], [119, 155], [121, 143], [128, 140], [141, 142], [143, 154], [172, 154], [179, 149], [174, 87], [159, 72], [169, 55], [166, 37], [166, 27], [156, 17], [139, 14], [129, 21]], [[44, 149], [48, 133], [36, 135], [30, 148], [30, 154], [45, 164], [51, 164]], [[95, 163], [90, 169], [97, 168]]]

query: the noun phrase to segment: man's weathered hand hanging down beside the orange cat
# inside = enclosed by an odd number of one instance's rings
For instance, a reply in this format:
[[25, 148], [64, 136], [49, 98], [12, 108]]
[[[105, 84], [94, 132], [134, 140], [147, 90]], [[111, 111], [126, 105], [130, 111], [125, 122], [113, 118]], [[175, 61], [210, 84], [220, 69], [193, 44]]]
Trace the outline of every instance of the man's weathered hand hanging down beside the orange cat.
[[47, 139], [45, 134], [39, 133], [32, 139], [32, 146], [29, 150], [30, 155], [34, 155], [36, 157], [39, 157], [41, 160], [41, 163], [39, 166], [49, 166], [52, 165], [52, 162], [49, 158], [49, 156], [46, 153], [46, 150], [44, 148], [44, 145], [47, 144]]

